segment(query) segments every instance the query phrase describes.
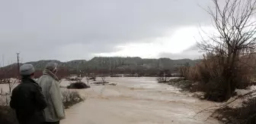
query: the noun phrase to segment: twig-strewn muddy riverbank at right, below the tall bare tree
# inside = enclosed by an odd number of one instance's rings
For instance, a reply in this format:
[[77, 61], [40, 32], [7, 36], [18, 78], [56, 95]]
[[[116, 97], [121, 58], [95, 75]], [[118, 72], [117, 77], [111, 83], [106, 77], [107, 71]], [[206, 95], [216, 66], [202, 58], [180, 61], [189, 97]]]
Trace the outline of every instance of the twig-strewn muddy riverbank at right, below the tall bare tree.
[[[200, 88], [202, 85], [199, 85], [199, 82], [190, 82], [185, 79], [170, 79], [165, 83], [180, 88], [180, 91], [194, 93], [194, 95], [191, 96], [200, 98], [201, 100], [209, 100], [206, 98], [206, 93]], [[254, 85], [254, 82], [252, 82], [242, 88], [244, 89], [236, 89], [235, 94], [232, 95], [232, 98], [230, 98], [229, 101], [218, 103], [203, 111], [211, 111], [213, 113], [211, 115], [213, 118], [224, 123], [254, 124], [254, 113], [256, 112], [256, 98], [254, 96], [256, 93], [256, 86]], [[198, 91], [200, 93], [199, 95]], [[213, 94], [215, 95], [214, 97], [216, 97], [215, 99], [217, 99], [219, 94], [221, 94], [221, 92], [215, 91]]]

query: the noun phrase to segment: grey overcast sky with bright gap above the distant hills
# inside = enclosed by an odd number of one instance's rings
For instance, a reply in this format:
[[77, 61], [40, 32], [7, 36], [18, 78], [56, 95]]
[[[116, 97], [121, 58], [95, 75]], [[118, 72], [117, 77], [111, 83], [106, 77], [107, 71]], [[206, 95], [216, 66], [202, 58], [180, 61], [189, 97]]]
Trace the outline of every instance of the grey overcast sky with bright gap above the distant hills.
[[0, 0], [0, 61], [200, 56], [210, 0]]

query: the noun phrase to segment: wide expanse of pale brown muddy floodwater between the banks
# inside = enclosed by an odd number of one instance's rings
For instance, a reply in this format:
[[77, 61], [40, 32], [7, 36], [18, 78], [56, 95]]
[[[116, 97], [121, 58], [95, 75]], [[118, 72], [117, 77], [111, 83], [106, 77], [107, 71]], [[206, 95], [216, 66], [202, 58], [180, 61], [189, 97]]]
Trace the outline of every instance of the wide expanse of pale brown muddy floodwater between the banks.
[[[62, 124], [207, 124], [219, 123], [206, 118], [210, 113], [195, 114], [213, 106], [181, 93], [155, 78], [107, 78], [114, 85], [92, 85], [78, 90], [85, 102], [66, 110]], [[67, 85], [68, 82], [62, 82]]]

